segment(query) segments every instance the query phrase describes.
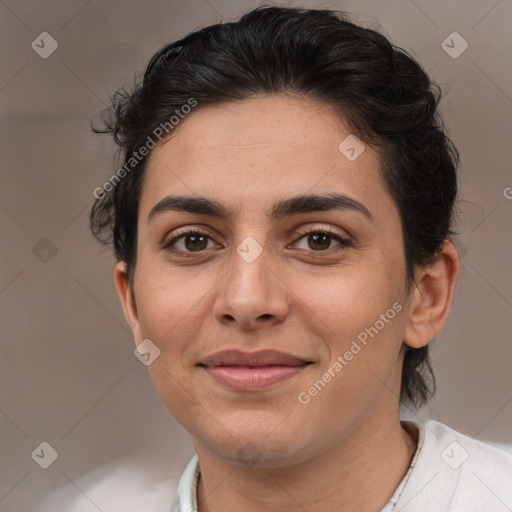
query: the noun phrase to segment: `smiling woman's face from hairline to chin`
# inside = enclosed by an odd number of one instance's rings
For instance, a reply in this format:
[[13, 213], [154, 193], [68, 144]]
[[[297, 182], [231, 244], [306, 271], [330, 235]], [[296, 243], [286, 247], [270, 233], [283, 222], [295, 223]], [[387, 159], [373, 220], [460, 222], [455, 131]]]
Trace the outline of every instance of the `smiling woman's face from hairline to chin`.
[[398, 410], [401, 221], [376, 151], [339, 149], [349, 135], [325, 106], [273, 96], [198, 108], [152, 150], [135, 302], [118, 289], [196, 447], [278, 466]]

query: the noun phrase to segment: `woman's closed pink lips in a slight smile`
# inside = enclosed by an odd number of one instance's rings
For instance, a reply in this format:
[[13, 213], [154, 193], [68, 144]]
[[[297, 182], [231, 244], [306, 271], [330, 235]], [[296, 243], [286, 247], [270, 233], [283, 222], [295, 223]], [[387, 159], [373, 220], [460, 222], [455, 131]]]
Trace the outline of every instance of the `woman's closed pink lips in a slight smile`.
[[203, 359], [200, 366], [226, 387], [258, 391], [297, 375], [308, 364], [305, 359], [276, 350], [223, 350]]

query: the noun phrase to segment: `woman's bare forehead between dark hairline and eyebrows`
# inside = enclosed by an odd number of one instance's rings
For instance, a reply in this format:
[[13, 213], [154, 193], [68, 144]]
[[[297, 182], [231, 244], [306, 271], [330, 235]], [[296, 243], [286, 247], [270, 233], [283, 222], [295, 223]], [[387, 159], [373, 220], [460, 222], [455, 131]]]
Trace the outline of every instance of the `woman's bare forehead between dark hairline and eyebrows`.
[[332, 108], [312, 99], [258, 97], [198, 106], [157, 144], [140, 213], [171, 193], [208, 195], [254, 213], [263, 200], [333, 191], [372, 209], [392, 207], [378, 153], [358, 142]]

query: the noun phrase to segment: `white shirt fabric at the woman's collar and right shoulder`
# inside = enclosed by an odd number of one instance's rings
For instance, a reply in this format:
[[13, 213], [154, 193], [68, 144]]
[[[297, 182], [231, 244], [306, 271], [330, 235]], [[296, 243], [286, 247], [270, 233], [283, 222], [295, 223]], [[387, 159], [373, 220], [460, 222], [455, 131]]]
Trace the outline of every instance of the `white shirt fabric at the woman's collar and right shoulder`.
[[[381, 512], [512, 512], [512, 456], [437, 421], [419, 430], [411, 465]], [[183, 472], [172, 512], [197, 512], [198, 457]]]

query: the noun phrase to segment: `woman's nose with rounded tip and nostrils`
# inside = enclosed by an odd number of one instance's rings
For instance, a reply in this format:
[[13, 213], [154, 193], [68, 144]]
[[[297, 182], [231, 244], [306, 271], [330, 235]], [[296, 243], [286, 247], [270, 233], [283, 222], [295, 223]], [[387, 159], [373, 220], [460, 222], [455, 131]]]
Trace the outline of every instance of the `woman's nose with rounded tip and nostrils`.
[[213, 308], [216, 320], [249, 331], [282, 323], [290, 307], [288, 289], [266, 251], [250, 262], [234, 253], [230, 263]]

